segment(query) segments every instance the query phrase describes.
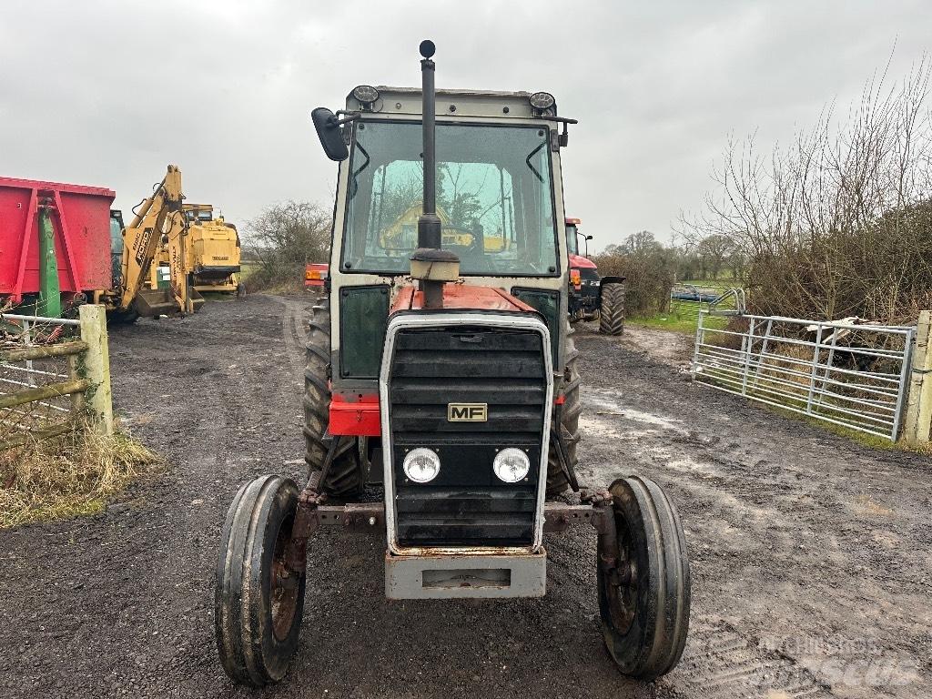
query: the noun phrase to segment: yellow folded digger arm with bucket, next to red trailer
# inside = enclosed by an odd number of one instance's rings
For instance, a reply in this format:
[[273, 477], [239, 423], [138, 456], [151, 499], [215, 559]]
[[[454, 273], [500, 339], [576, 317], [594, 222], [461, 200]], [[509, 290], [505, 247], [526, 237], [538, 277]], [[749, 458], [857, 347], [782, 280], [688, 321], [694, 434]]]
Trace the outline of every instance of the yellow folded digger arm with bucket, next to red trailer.
[[[112, 320], [185, 315], [203, 305], [185, 265], [189, 226], [184, 199], [181, 170], [169, 165], [152, 195], [134, 211], [132, 223], [123, 228], [119, 279], [115, 280], [116, 288], [102, 299]], [[170, 274], [169, 283], [158, 288], [149, 284], [149, 279], [163, 241]]]

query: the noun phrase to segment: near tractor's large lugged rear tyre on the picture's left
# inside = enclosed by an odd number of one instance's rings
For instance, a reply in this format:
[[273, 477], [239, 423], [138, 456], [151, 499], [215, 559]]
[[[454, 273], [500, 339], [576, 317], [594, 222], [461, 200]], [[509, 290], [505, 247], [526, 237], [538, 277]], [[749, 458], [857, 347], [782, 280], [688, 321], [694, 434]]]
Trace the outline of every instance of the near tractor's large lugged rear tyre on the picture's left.
[[[308, 363], [304, 370], [304, 436], [307, 452], [304, 460], [310, 471], [321, 471], [330, 448], [324, 439], [330, 424], [330, 307], [326, 296], [318, 298], [312, 309], [308, 335]], [[336, 437], [335, 437], [336, 439]], [[348, 498], [363, 489], [359, 467], [359, 444], [352, 439], [341, 445], [327, 473], [322, 489], [336, 498]]]

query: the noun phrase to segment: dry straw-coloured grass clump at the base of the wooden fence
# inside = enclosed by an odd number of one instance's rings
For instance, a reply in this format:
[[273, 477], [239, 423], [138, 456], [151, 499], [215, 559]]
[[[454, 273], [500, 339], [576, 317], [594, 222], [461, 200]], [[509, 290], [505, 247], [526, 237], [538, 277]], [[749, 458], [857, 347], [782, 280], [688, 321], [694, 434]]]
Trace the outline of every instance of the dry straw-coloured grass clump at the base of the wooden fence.
[[99, 513], [107, 498], [160, 463], [126, 434], [91, 429], [7, 449], [0, 452], [0, 528]]

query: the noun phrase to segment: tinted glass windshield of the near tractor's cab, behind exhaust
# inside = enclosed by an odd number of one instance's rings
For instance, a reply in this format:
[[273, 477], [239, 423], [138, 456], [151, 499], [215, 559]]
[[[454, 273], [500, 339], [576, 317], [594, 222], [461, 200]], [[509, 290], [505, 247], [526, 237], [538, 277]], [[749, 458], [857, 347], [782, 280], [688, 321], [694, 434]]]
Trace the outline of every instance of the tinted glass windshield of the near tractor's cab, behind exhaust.
[[[548, 130], [437, 124], [437, 215], [465, 275], [558, 274]], [[421, 126], [357, 124], [343, 271], [407, 274], [423, 207]]]

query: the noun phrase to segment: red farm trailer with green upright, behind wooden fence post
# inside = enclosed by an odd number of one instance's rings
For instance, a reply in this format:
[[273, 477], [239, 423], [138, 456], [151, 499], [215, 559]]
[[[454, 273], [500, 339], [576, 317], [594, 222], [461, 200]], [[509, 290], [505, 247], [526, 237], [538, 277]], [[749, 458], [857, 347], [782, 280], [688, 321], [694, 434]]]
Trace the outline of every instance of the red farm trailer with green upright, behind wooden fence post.
[[40, 315], [112, 288], [110, 205], [104, 187], [0, 177], [0, 308]]

